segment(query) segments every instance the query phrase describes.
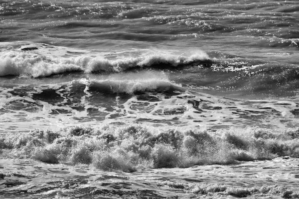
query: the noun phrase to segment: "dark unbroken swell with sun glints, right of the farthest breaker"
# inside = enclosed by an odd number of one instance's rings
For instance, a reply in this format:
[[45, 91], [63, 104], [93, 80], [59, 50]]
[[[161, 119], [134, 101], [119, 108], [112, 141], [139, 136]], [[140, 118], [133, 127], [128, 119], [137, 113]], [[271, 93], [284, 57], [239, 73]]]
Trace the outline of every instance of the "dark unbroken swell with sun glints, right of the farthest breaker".
[[217, 52], [209, 53], [209, 56], [218, 57], [219, 60], [211, 63], [209, 68], [205, 68], [207, 65], [201, 69], [186, 68], [190, 74], [192, 73], [192, 78], [185, 79], [184, 84], [203, 87], [213, 95], [233, 95], [233, 98], [298, 96], [299, 67], [287, 63], [288, 55], [273, 55], [281, 56], [280, 60], [283, 63], [233, 58], [232, 55]]

